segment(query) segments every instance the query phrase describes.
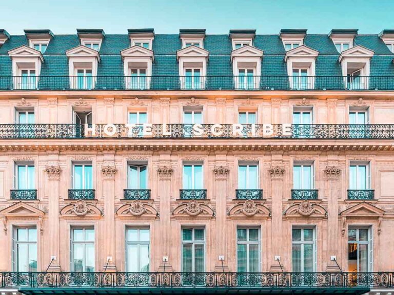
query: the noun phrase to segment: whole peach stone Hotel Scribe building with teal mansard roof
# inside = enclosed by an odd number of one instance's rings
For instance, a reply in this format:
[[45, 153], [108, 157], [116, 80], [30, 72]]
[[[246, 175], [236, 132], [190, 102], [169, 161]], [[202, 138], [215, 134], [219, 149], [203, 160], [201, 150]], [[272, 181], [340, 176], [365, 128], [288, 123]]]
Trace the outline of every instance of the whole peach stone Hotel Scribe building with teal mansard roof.
[[0, 30], [2, 291], [390, 293], [393, 52]]

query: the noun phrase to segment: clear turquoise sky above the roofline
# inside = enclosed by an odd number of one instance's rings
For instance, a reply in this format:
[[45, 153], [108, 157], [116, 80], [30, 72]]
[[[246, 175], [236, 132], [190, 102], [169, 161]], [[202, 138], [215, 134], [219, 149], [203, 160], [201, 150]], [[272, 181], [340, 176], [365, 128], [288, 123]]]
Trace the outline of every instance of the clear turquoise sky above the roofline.
[[281, 28], [305, 28], [326, 34], [355, 28], [360, 34], [394, 29], [394, 0], [0, 0], [0, 28], [51, 29], [74, 34], [76, 28], [124, 34], [128, 28], [154, 28], [178, 34], [180, 28], [227, 34], [229, 29], [257, 29], [277, 34]]

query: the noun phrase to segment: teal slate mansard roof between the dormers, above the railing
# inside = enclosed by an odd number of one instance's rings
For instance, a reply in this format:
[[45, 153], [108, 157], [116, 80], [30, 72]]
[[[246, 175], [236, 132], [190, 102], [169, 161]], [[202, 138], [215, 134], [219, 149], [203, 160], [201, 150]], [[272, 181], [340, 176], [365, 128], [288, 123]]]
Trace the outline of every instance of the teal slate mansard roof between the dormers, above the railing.
[[[278, 34], [255, 35], [253, 44], [264, 51], [262, 75], [287, 75], [284, 63], [285, 49]], [[342, 75], [338, 62], [339, 52], [328, 35], [307, 34], [304, 44], [320, 52], [316, 62], [316, 75]], [[12, 75], [12, 64], [8, 51], [22, 45], [28, 45], [25, 35], [11, 35], [0, 48], [0, 76]], [[43, 54], [44, 64], [41, 75], [68, 75], [66, 51], [78, 45], [80, 45], [80, 40], [76, 34], [54, 35]], [[378, 34], [357, 35], [354, 45], [362, 45], [375, 52], [371, 59], [371, 75], [394, 76], [394, 63], [392, 62], [394, 54], [388, 50]], [[107, 34], [103, 38], [100, 48], [101, 62], [98, 75], [123, 75], [123, 61], [120, 52], [128, 47], [129, 36], [127, 34]], [[178, 75], [176, 51], [181, 47], [182, 41], [179, 34], [155, 35], [152, 44], [155, 55], [152, 75]], [[204, 48], [209, 51], [207, 75], [232, 75], [230, 61], [232, 47], [228, 34], [206, 35]]]

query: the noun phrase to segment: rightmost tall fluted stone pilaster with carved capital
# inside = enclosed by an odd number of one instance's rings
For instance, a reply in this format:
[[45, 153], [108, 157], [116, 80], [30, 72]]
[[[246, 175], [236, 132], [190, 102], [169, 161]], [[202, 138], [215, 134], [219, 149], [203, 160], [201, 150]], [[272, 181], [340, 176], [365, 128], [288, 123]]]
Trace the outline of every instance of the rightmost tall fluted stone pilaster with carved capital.
[[340, 271], [337, 263], [331, 261], [331, 256], [337, 256], [339, 260], [339, 220], [338, 220], [338, 197], [339, 178], [341, 169], [337, 166], [327, 166], [324, 170], [327, 177], [327, 266], [326, 271]]

